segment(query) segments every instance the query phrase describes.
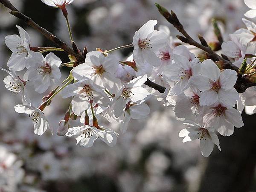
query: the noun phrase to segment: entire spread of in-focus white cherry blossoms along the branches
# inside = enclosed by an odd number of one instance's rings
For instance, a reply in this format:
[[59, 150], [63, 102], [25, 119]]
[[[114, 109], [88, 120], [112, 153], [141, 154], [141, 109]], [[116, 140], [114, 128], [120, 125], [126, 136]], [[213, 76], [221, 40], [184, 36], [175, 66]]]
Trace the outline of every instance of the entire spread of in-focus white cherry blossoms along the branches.
[[[67, 17], [65, 6], [72, 0], [43, 2], [60, 7]], [[243, 22], [247, 29], [230, 34], [230, 41], [224, 42], [221, 48], [236, 67], [244, 68], [244, 73], [253, 77], [256, 27], [249, 20], [243, 19]], [[54, 134], [43, 111], [61, 93], [71, 102], [59, 122], [58, 136], [75, 137], [76, 143], [84, 147], [91, 147], [97, 139], [113, 146], [118, 133], [101, 126], [98, 119], [103, 117], [119, 124], [123, 134], [131, 119], [148, 116], [150, 108], [146, 102], [154, 96], [164, 106], [173, 108], [177, 119], [188, 125], [179, 134], [185, 137], [183, 142], [199, 139], [205, 157], [214, 145], [221, 150], [217, 134], [230, 136], [234, 127], [244, 125], [241, 117], [244, 106], [248, 113], [255, 112], [255, 88], [239, 94], [234, 88], [238, 78], [235, 70], [222, 69], [209, 58], [196, 57], [185, 45], [177, 46], [168, 28], [155, 30], [156, 24], [157, 20], [145, 23], [134, 33], [133, 42], [128, 46], [88, 52], [83, 63], [78, 63], [73, 56], [69, 63], [62, 63], [51, 52], [59, 48], [31, 47], [29, 34], [17, 26], [20, 36], [6, 36], [5, 41], [12, 51], [7, 62], [9, 70], [1, 68], [9, 74], [4, 79], [6, 88], [22, 96], [22, 104], [16, 105], [15, 111], [29, 116], [35, 134], [42, 135], [47, 129]], [[126, 47], [133, 47], [133, 52], [125, 61], [111, 54]], [[44, 52], [50, 53], [44, 56]], [[249, 59], [244, 60], [245, 57]], [[60, 68], [65, 66], [72, 70], [61, 82]], [[23, 78], [19, 75], [22, 72]], [[145, 85], [149, 80], [166, 87], [165, 92]], [[49, 92], [52, 86], [57, 87]], [[32, 92], [47, 94], [38, 107], [32, 105]], [[77, 119], [81, 125], [73, 126], [70, 119]]]

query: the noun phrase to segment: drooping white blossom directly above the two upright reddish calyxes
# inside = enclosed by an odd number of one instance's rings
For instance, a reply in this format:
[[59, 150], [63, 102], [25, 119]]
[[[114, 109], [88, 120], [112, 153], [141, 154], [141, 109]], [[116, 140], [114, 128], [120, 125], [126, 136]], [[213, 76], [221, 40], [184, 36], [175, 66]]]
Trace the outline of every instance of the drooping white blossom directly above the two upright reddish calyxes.
[[104, 107], [109, 105], [109, 99], [104, 90], [90, 79], [84, 79], [65, 87], [62, 90], [62, 97], [70, 96], [74, 96], [71, 102], [72, 110], [79, 116], [90, 108], [91, 102]]

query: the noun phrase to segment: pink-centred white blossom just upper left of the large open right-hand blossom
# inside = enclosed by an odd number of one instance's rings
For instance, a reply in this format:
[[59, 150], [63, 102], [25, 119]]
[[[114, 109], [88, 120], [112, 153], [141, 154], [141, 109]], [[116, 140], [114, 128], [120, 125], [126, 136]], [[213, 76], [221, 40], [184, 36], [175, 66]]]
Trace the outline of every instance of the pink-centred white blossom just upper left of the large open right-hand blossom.
[[167, 81], [175, 81], [170, 94], [179, 95], [183, 90], [189, 87], [192, 76], [199, 76], [201, 73], [201, 63], [198, 58], [189, 61], [188, 58], [181, 55], [174, 55], [174, 64], [167, 65], [164, 68], [163, 75]]

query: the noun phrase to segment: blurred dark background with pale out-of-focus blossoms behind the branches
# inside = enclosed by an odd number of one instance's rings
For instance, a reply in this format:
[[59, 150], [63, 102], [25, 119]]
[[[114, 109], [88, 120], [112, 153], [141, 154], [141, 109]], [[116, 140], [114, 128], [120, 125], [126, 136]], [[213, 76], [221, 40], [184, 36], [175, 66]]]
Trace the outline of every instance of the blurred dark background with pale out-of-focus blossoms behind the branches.
[[[10, 1], [40, 26], [70, 42], [61, 10], [41, 0]], [[215, 38], [212, 18], [218, 20], [227, 41], [229, 33], [245, 27], [241, 18], [249, 10], [243, 0], [74, 0], [67, 6], [74, 41], [79, 49], [86, 46], [89, 51], [131, 44], [134, 32], [151, 19], [158, 20], [157, 28], [168, 26], [175, 39], [177, 31], [158, 13], [155, 1], [173, 10], [192, 37], [200, 33], [207, 41]], [[55, 46], [8, 12], [0, 5], [0, 67], [7, 69], [11, 52], [4, 37], [18, 34], [16, 25], [29, 33], [32, 47]], [[131, 51], [114, 54], [126, 58]], [[55, 54], [68, 62], [67, 55]], [[68, 69], [62, 72], [65, 79]], [[82, 148], [73, 137], [51, 136], [50, 132], [35, 135], [30, 119], [14, 111], [21, 98], [4, 87], [6, 75], [0, 71], [0, 192], [256, 192], [254, 115], [243, 114], [245, 126], [228, 138], [219, 136], [222, 152], [215, 148], [205, 158], [198, 140], [182, 143], [178, 137], [185, 126], [175, 119], [172, 108], [152, 98], [147, 102], [150, 116], [131, 120], [115, 147], [96, 141], [92, 148]], [[32, 96], [34, 106], [42, 96]], [[55, 133], [69, 102], [53, 99], [44, 111]]]

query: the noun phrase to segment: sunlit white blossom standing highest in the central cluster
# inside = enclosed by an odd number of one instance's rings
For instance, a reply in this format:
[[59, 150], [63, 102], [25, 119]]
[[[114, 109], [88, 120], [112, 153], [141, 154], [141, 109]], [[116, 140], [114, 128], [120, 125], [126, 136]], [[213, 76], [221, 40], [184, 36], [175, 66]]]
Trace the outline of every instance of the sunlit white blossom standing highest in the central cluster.
[[154, 30], [157, 20], [149, 20], [145, 23], [133, 37], [133, 57], [134, 61], [143, 65], [145, 62], [157, 67], [160, 59], [156, 53], [162, 47], [165, 47], [168, 35], [165, 32]]

